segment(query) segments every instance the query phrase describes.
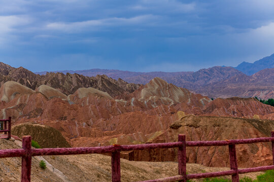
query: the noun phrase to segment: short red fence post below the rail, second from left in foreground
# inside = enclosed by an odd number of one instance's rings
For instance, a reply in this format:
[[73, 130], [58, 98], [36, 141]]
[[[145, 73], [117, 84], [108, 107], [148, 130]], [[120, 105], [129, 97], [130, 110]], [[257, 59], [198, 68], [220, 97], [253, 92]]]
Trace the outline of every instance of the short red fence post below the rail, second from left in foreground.
[[112, 182], [121, 181], [120, 152], [113, 152], [111, 155]]

